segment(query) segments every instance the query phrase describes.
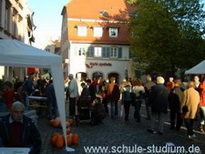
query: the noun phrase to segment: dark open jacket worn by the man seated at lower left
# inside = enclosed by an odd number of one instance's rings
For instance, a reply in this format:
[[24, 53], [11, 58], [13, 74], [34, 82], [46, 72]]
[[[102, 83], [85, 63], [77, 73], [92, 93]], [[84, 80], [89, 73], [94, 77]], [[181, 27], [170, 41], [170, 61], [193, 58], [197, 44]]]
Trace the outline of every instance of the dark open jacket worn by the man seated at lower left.
[[[0, 143], [2, 146], [7, 147], [9, 142], [9, 117], [10, 115], [2, 118], [0, 121]], [[22, 147], [30, 148], [29, 154], [37, 154], [40, 153], [41, 150], [41, 136], [32, 121], [27, 116], [23, 116], [23, 133], [21, 138], [21, 145]]]

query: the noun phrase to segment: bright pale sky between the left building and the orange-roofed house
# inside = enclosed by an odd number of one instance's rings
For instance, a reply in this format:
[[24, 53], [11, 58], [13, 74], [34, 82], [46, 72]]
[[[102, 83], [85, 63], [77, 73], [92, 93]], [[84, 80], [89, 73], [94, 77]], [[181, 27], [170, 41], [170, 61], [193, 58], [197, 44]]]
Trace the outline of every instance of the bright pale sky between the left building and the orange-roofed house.
[[49, 40], [61, 35], [62, 9], [70, 0], [28, 0], [28, 7], [34, 13], [33, 22], [35, 43], [33, 46], [44, 49]]

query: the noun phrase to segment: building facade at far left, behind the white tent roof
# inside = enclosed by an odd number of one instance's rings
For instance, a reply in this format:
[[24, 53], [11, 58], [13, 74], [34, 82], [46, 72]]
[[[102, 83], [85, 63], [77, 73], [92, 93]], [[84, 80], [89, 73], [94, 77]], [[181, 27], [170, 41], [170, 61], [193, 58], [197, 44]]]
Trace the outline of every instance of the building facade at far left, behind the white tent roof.
[[[33, 13], [27, 0], [0, 0], [0, 39], [17, 39], [31, 45], [33, 37]], [[11, 80], [18, 76], [23, 79], [25, 68], [0, 66], [0, 79]]]

